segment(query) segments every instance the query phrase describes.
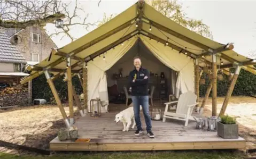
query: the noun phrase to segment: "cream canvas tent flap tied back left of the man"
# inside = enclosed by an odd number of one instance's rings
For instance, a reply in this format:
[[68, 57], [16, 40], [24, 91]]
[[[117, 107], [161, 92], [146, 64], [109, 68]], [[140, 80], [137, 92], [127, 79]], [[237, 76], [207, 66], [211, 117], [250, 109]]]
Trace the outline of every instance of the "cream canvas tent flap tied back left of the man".
[[[99, 97], [102, 106], [101, 112], [108, 110], [107, 78], [106, 73], [129, 49], [135, 44], [137, 37], [130, 38], [123, 45], [107, 51], [104, 55], [94, 58], [88, 63], [88, 111], [90, 112], [90, 100]], [[103, 59], [105, 57], [105, 60]], [[97, 106], [95, 103], [94, 106]], [[97, 110], [97, 108], [96, 108]]]

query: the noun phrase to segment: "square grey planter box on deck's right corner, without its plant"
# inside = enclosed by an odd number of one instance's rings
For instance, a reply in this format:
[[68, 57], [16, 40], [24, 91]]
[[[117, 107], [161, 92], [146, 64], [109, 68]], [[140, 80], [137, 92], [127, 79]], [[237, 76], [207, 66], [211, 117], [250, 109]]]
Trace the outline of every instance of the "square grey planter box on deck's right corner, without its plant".
[[238, 136], [238, 124], [223, 124], [217, 122], [217, 132], [223, 139], [237, 139]]

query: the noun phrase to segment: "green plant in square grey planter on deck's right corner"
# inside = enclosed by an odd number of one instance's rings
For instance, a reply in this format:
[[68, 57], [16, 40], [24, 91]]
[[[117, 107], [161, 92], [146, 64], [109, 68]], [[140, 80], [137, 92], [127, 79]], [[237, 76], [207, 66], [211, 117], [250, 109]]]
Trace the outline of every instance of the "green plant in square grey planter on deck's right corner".
[[238, 124], [231, 116], [223, 115], [221, 116], [221, 121], [217, 123], [217, 132], [224, 139], [237, 139]]

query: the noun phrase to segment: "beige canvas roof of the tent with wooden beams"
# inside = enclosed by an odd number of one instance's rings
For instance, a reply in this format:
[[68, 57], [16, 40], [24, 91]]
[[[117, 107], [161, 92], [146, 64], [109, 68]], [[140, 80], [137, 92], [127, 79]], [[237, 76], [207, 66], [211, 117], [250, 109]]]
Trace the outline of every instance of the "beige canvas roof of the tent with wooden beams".
[[[230, 68], [234, 63], [241, 65], [255, 64], [252, 59], [239, 55], [231, 49], [224, 48], [226, 44], [220, 44], [182, 27], [146, 3], [143, 6], [142, 14], [139, 14], [137, 6], [138, 2], [87, 35], [63, 48], [59, 48], [58, 51], [53, 50], [49, 57], [30, 69], [32, 70], [30, 76], [22, 80], [21, 83], [39, 76], [43, 73], [43, 69], [57, 74], [57, 77], [64, 74], [67, 55], [72, 58], [73, 72], [77, 72], [82, 69], [84, 61], [90, 62], [98, 55], [109, 52], [121, 44], [128, 43], [128, 39], [135, 36], [158, 41], [157, 43], [161, 45], [165, 45], [168, 41], [166, 47], [173, 48], [172, 51], [169, 51], [169, 54], [179, 52], [185, 56], [199, 58], [200, 66], [205, 66], [205, 63], [210, 64], [212, 62], [211, 56], [206, 55], [215, 51], [220, 52], [218, 56], [223, 62], [222, 68]], [[142, 19], [139, 21], [142, 23], [138, 22], [139, 26], [136, 27], [138, 15], [142, 15]], [[152, 30], [150, 31], [149, 28], [152, 28]], [[202, 53], [205, 56], [202, 57]], [[221, 64], [220, 58], [217, 61], [218, 65]]]

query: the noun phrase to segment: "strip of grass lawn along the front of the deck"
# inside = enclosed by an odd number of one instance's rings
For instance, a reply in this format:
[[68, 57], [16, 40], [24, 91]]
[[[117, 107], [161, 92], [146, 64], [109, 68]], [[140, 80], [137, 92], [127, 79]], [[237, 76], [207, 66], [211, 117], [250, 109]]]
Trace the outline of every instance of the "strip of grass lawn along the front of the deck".
[[238, 152], [223, 152], [223, 151], [179, 151], [179, 152], [156, 152], [156, 153], [133, 153], [133, 152], [118, 152], [118, 153], [58, 153], [50, 156], [18, 156], [12, 154], [0, 153], [1, 159], [19, 158], [19, 159], [129, 159], [129, 158], [149, 158], [149, 159], [162, 159], [162, 158], [175, 158], [175, 159], [242, 159], [244, 155]]

